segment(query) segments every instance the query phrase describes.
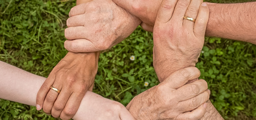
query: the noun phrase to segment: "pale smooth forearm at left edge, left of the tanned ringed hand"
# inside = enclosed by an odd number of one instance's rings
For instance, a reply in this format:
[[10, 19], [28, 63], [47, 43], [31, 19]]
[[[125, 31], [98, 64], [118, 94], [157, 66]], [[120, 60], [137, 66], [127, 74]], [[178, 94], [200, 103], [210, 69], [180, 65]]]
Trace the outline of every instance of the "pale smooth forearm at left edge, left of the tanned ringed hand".
[[37, 92], [45, 78], [0, 61], [0, 97], [35, 106]]

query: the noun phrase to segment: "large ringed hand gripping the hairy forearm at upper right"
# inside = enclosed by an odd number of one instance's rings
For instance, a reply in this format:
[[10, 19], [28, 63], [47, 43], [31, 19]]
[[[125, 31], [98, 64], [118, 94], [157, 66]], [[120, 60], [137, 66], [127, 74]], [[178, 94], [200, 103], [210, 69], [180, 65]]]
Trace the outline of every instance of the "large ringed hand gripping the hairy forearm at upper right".
[[[154, 25], [153, 64], [160, 81], [181, 68], [194, 67], [204, 45], [207, 4], [203, 0], [176, 2], [162, 2]], [[195, 23], [184, 16], [196, 19]]]

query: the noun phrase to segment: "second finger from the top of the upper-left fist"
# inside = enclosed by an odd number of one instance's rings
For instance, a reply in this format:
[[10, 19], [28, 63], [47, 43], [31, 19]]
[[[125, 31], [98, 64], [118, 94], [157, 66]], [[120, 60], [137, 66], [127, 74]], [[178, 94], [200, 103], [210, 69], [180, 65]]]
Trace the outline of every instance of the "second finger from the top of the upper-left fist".
[[85, 14], [79, 14], [67, 19], [67, 27], [84, 26], [86, 22]]

